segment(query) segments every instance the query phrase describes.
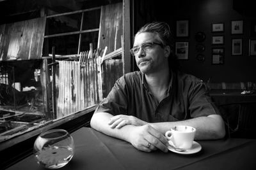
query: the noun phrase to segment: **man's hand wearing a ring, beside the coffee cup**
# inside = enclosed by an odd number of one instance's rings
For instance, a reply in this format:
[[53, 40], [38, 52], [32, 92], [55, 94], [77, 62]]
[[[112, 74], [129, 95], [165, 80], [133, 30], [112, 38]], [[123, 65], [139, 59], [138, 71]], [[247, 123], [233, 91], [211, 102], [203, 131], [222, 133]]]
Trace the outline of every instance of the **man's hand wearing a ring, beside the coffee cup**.
[[130, 131], [129, 141], [134, 148], [144, 152], [151, 152], [157, 148], [163, 152], [168, 152], [167, 139], [150, 125], [134, 126]]

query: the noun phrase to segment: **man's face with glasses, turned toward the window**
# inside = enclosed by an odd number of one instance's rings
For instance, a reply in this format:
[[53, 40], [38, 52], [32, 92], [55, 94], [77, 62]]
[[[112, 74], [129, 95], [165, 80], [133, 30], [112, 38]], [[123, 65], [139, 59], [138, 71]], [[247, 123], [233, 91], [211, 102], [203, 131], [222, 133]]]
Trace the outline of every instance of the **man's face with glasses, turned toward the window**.
[[151, 32], [143, 32], [135, 37], [134, 46], [141, 45], [135, 54], [135, 59], [142, 73], [157, 73], [166, 66], [168, 67], [168, 55], [164, 47], [159, 44], [161, 43], [157, 35]]

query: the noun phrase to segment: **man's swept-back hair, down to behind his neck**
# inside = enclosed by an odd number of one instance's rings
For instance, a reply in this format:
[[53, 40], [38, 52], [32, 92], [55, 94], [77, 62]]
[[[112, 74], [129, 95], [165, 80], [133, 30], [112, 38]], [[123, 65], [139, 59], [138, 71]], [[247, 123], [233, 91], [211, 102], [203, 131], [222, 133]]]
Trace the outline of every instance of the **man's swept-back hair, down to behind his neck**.
[[170, 31], [170, 26], [166, 22], [148, 23], [141, 27], [135, 36], [138, 36], [138, 34], [143, 32], [152, 32], [157, 34], [158, 40], [163, 44], [163, 46], [170, 46], [170, 56], [168, 58], [169, 67], [173, 71], [177, 71], [177, 69], [179, 69], [179, 62], [173, 52], [173, 36]]

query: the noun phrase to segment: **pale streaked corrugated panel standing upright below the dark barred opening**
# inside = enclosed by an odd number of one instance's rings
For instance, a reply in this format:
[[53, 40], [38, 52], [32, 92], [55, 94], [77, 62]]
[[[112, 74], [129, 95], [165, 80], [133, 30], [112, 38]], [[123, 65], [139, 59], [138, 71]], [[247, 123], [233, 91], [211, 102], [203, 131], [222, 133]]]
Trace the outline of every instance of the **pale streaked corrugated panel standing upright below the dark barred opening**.
[[81, 62], [59, 61], [56, 76], [57, 118], [102, 101], [100, 57]]

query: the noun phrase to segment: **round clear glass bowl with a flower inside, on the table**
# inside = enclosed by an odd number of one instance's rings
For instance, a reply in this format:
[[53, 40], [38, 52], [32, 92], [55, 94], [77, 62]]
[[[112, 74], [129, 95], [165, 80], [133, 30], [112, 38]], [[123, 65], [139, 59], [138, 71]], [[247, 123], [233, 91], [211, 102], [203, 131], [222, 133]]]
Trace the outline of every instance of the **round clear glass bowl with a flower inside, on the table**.
[[33, 149], [36, 162], [48, 169], [65, 166], [74, 155], [74, 139], [63, 129], [42, 132]]

